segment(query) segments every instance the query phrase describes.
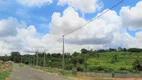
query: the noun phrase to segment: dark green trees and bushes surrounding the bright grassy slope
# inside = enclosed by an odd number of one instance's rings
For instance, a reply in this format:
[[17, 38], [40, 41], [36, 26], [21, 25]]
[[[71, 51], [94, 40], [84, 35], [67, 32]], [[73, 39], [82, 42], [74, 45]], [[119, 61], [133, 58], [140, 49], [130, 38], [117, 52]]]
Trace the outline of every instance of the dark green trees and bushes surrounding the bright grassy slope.
[[[99, 50], [87, 50], [81, 49], [80, 52], [74, 52], [73, 54], [65, 53], [65, 69], [72, 70], [72, 68], [76, 67], [78, 71], [93, 71], [93, 70], [106, 70], [106, 72], [112, 71], [111, 69], [105, 69], [103, 67], [88, 67], [87, 60], [89, 58], [99, 58], [101, 52], [142, 52], [142, 49], [139, 48], [121, 48], [118, 49], [109, 48], [109, 49], [99, 49]], [[44, 65], [44, 56], [45, 56], [45, 65]], [[31, 64], [37, 65], [42, 67], [51, 67], [51, 68], [62, 68], [62, 57], [63, 54], [61, 53], [45, 53], [45, 52], [35, 52], [34, 55], [25, 54], [21, 55], [20, 52], [11, 52], [10, 56], [0, 56], [0, 60], [3, 61], [14, 61], [15, 63], [24, 63], [24, 64]], [[111, 64], [115, 64], [118, 61], [117, 55], [114, 55], [111, 60]], [[133, 64], [133, 69], [142, 71], [142, 65], [137, 58]]]

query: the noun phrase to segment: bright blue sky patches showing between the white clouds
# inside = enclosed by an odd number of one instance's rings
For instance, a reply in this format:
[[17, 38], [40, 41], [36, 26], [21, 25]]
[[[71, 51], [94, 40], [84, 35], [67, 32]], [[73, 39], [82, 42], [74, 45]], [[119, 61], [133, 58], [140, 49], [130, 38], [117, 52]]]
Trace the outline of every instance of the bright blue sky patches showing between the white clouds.
[[[90, 20], [96, 16], [96, 14], [102, 12], [104, 9], [112, 7], [119, 0], [102, 0], [104, 7], [94, 13], [84, 13], [84, 18]], [[122, 6], [135, 6], [139, 0], [124, 0], [122, 4], [117, 6], [114, 10], [119, 14]], [[28, 25], [36, 26], [39, 33], [46, 34], [49, 32], [49, 23], [51, 22], [51, 16], [54, 12], [62, 13], [68, 6], [58, 6], [58, 1], [54, 1], [52, 4], [44, 4], [41, 7], [33, 6], [28, 7], [21, 5], [16, 0], [1, 0], [0, 1], [0, 19], [7, 19], [8, 17], [17, 18], [19, 21], [23, 20]], [[82, 17], [82, 12], [77, 10]], [[131, 33], [131, 31], [128, 31]], [[133, 35], [133, 32], [131, 33]]]

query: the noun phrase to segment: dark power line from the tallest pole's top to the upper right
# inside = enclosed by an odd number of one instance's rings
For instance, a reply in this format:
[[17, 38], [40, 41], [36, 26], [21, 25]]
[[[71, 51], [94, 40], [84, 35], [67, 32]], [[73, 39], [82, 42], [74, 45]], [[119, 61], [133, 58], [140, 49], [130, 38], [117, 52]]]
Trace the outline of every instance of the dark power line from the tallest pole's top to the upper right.
[[77, 30], [83, 28], [84, 26], [88, 25], [89, 23], [93, 22], [93, 21], [96, 20], [97, 18], [100, 18], [100, 17], [103, 16], [105, 13], [109, 12], [111, 9], [113, 9], [113, 8], [115, 8], [116, 6], [118, 6], [119, 4], [121, 4], [123, 1], [124, 1], [124, 0], [119, 1], [119, 2], [116, 3], [114, 6], [112, 6], [112, 7], [109, 8], [109, 9], [107, 9], [107, 10], [104, 11], [102, 14], [98, 15], [96, 18], [94, 18], [94, 19], [90, 20], [89, 22], [83, 24], [82, 26], [78, 27], [77, 29], [75, 29], [75, 30], [73, 30], [73, 31], [71, 31], [71, 32], [69, 32], [69, 33], [64, 34], [64, 36], [67, 36], [67, 35], [69, 35], [69, 34], [75, 32], [75, 31], [77, 31]]

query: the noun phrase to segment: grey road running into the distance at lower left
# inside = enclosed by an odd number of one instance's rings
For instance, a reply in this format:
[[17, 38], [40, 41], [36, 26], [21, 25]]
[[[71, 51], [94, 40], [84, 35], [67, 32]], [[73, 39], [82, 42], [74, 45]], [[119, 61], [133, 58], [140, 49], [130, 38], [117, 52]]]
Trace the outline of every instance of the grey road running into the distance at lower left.
[[20, 68], [17, 64], [14, 64], [13, 68], [10, 80], [70, 80], [46, 72], [36, 71], [28, 66]]

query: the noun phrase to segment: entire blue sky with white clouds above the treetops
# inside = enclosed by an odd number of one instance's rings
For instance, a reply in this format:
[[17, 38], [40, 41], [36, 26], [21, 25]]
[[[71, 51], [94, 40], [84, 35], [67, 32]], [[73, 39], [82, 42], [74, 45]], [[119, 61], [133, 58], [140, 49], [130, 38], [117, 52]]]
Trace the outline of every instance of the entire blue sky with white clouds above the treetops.
[[[0, 55], [142, 48], [142, 0], [0, 0]], [[60, 39], [58, 42], [57, 40]]]

